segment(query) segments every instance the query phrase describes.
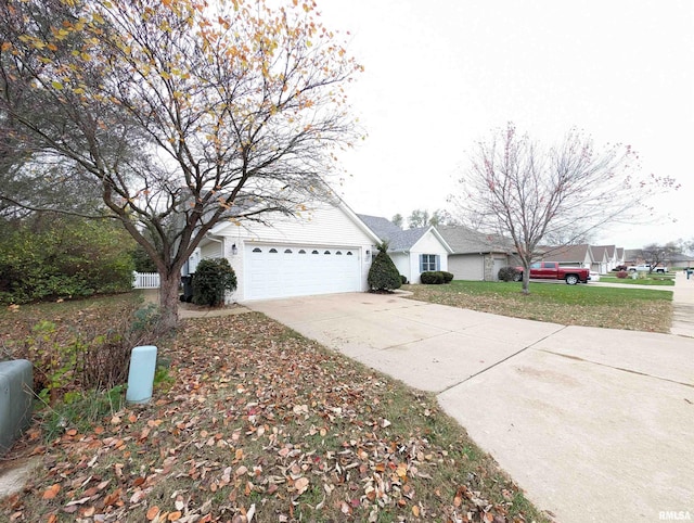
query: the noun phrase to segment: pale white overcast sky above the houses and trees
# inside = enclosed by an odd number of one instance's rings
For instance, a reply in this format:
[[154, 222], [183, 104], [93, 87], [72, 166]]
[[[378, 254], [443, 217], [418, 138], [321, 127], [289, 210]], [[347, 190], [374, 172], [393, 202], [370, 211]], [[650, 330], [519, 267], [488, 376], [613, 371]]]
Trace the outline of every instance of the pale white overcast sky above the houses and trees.
[[694, 239], [691, 0], [318, 3], [365, 67], [350, 92], [368, 138], [342, 156], [356, 212], [447, 208], [474, 142], [514, 122], [547, 142], [578, 127], [599, 145], [630, 144], [645, 171], [681, 183], [655, 202], [654, 226], [596, 242]]

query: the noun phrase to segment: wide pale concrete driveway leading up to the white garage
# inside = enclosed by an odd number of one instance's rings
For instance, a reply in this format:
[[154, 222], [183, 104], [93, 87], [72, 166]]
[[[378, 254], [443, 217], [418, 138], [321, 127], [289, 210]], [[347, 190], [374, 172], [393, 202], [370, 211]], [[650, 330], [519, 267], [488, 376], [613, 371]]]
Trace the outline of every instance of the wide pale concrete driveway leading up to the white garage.
[[564, 327], [397, 295], [249, 307], [437, 393], [560, 522], [694, 520], [694, 339]]

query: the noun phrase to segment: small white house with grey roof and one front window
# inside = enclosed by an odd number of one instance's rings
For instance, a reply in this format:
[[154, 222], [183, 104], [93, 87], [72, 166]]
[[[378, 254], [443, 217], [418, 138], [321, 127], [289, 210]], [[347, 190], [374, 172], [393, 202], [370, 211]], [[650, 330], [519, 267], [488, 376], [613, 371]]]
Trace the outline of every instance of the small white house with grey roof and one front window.
[[380, 216], [358, 216], [382, 241], [388, 242], [390, 259], [410, 283], [420, 283], [422, 272], [448, 270], [448, 256], [453, 251], [435, 227], [403, 230]]

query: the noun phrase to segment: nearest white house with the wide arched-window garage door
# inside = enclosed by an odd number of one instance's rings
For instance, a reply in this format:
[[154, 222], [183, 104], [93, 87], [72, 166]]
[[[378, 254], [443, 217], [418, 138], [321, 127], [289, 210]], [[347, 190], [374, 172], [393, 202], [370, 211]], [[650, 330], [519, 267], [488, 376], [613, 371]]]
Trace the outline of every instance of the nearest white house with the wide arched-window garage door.
[[226, 257], [236, 272], [237, 288], [228, 302], [368, 290], [380, 239], [344, 202], [320, 202], [296, 217], [265, 218], [271, 226], [218, 224], [200, 244], [202, 259]]

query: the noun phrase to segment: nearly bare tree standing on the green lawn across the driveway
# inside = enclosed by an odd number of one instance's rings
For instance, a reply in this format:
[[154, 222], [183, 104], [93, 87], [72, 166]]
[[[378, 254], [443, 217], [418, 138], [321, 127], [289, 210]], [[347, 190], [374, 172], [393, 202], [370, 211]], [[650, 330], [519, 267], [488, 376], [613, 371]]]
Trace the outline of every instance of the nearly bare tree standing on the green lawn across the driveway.
[[524, 267], [541, 242], [579, 243], [606, 224], [650, 214], [655, 189], [674, 188], [670, 178], [639, 175], [638, 155], [629, 145], [599, 150], [590, 137], [570, 130], [561, 143], [541, 148], [513, 124], [479, 142], [470, 167], [451, 195], [465, 225], [510, 238]]

